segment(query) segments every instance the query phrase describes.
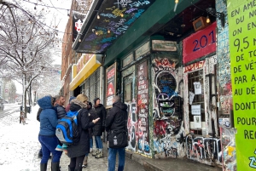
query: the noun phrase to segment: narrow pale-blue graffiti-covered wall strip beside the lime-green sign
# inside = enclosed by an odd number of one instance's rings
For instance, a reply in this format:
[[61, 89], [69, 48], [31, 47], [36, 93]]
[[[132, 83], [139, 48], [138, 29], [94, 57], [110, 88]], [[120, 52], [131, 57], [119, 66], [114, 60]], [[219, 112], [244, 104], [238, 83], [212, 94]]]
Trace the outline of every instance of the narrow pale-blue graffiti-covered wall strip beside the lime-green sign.
[[[232, 106], [232, 87], [230, 76], [230, 44], [229, 44], [229, 26], [227, 17], [227, 4], [224, 0], [216, 0], [216, 10], [225, 14], [225, 25], [221, 26], [218, 20], [218, 87], [219, 102], [222, 111], [233, 110]], [[220, 125], [221, 143], [223, 151], [223, 170], [236, 170], [236, 142], [235, 130], [225, 128]]]

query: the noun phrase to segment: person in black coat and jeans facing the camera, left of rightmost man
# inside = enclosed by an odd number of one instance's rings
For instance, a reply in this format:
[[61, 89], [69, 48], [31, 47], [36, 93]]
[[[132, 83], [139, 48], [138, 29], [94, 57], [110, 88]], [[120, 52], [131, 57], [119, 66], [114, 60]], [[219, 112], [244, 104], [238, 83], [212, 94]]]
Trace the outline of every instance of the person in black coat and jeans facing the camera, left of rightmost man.
[[100, 118], [99, 122], [96, 123], [95, 127], [92, 128], [92, 135], [95, 136], [96, 142], [96, 151], [93, 152], [92, 156], [96, 158], [103, 157], [103, 144], [102, 144], [102, 132], [105, 131], [105, 120], [106, 120], [106, 109], [104, 105], [101, 104], [100, 98], [96, 98], [94, 101], [94, 107], [92, 108], [95, 111], [94, 118]]

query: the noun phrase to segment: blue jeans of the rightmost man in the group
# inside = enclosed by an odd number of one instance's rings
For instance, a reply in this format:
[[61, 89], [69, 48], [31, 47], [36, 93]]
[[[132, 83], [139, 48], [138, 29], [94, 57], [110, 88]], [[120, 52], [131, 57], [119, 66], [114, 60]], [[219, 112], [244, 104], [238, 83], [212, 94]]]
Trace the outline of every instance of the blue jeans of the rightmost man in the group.
[[108, 148], [108, 171], [115, 170], [115, 159], [117, 152], [119, 152], [118, 171], [123, 171], [125, 168], [125, 148]]

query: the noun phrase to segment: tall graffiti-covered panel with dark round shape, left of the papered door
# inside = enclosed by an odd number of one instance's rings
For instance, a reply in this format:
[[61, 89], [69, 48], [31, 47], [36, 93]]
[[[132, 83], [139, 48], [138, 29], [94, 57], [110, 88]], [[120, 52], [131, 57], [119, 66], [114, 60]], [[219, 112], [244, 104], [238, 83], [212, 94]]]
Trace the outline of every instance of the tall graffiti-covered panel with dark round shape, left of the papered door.
[[152, 60], [154, 157], [183, 157], [182, 69], [177, 59]]

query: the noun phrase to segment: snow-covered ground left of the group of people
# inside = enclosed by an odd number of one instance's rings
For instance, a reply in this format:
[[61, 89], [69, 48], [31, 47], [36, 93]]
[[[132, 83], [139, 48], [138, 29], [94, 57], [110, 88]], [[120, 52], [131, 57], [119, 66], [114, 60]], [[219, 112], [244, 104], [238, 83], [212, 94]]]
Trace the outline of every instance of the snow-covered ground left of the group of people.
[[38, 171], [38, 105], [27, 114], [26, 125], [19, 123], [20, 112], [0, 119], [0, 170]]

